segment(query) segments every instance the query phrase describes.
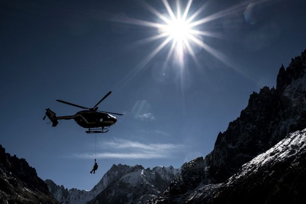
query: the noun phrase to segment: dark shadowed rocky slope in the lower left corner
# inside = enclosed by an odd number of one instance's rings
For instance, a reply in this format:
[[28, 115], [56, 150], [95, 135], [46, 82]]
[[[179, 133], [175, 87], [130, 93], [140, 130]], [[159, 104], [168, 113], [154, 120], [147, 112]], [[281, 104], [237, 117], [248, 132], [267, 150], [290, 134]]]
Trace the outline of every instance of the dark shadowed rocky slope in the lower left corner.
[[0, 145], [0, 200], [2, 203], [58, 203], [36, 170]]

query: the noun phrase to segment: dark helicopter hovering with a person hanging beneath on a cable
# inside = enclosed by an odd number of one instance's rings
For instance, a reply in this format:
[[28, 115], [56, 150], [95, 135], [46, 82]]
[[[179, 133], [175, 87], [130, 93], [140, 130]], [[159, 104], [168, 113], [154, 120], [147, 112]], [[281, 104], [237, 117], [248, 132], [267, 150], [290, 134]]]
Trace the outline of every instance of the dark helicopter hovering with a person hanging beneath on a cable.
[[48, 116], [48, 118], [52, 122], [52, 126], [55, 127], [59, 123], [58, 120], [74, 119], [74, 121], [77, 122], [80, 126], [88, 129], [86, 133], [107, 133], [109, 131], [109, 127], [113, 124], [116, 124], [116, 121], [117, 121], [117, 118], [111, 114], [123, 115], [120, 113], [98, 111], [97, 106], [101, 103], [101, 101], [107, 98], [111, 93], [112, 91], [108, 92], [102, 99], [98, 101], [98, 103], [93, 108], [87, 108], [87, 107], [69, 103], [64, 100], [57, 99], [57, 101], [59, 101], [60, 103], [78, 107], [81, 109], [87, 109], [87, 110], [79, 111], [74, 115], [57, 117], [55, 112], [47, 108], [45, 116], [43, 117], [43, 120], [45, 119], [46, 116]]

